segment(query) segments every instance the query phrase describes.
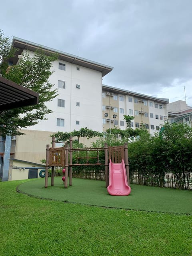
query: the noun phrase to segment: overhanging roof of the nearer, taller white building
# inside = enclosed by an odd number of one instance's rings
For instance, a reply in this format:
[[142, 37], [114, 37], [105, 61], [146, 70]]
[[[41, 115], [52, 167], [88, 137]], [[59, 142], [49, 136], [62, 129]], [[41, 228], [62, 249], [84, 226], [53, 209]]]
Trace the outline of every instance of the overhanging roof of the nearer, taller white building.
[[[79, 56], [75, 56], [75, 55], [72, 55], [72, 54], [69, 54], [66, 52], [62, 52], [62, 51], [59, 51], [59, 50], [56, 50], [53, 48], [49, 48], [47, 46], [39, 45], [39, 44], [30, 42], [30, 41], [27, 41], [27, 40], [24, 40], [21, 38], [17, 38], [17, 37], [13, 37], [12, 46], [18, 48], [17, 56], [18, 56], [18, 54], [22, 53], [22, 50], [30, 50], [30, 51], [34, 52], [39, 47], [41, 47], [42, 50], [46, 51], [46, 54], [51, 54], [53, 52], [58, 53], [59, 60], [64, 60], [66, 62], [76, 64], [78, 66], [83, 66], [86, 68], [100, 71], [100, 72], [102, 72], [102, 76], [105, 76], [106, 74], [108, 74], [110, 71], [113, 70], [113, 67], [111, 67], [111, 66], [104, 65], [104, 64], [94, 62], [91, 60], [87, 60], [87, 59], [81, 58]], [[15, 58], [12, 58], [11, 60], [13, 61], [13, 64], [16, 64], [18, 61], [18, 58], [15, 57]]]

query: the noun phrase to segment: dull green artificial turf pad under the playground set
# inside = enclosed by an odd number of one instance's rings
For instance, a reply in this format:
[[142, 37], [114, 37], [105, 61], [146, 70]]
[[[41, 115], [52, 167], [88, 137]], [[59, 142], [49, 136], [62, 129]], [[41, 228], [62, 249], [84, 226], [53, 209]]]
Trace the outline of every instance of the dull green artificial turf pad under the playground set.
[[[50, 179], [49, 179], [50, 182]], [[110, 196], [105, 182], [73, 178], [72, 186], [64, 188], [61, 177], [54, 186], [44, 188], [44, 179], [30, 180], [18, 186], [18, 191], [53, 200], [111, 208], [192, 214], [192, 191], [139, 186], [131, 184], [129, 196]]]

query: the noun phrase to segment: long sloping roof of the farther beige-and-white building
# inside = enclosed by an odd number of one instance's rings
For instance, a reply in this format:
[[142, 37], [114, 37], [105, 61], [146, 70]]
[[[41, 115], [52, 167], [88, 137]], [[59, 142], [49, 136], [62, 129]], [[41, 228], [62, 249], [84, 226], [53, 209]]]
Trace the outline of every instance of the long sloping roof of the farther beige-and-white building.
[[105, 84], [103, 84], [103, 89], [108, 90], [110, 92], [116, 92], [116, 93], [119, 93], [119, 94], [123, 94], [123, 95], [136, 96], [136, 97], [143, 98], [143, 99], [146, 99], [146, 100], [151, 99], [154, 102], [160, 102], [160, 103], [164, 103], [164, 104], [169, 103], [169, 99], [167, 99], [167, 98], [156, 98], [156, 97], [148, 96], [146, 94], [140, 94], [138, 92], [132, 92], [132, 91], [128, 91], [128, 90], [108, 86], [108, 85], [105, 85]]

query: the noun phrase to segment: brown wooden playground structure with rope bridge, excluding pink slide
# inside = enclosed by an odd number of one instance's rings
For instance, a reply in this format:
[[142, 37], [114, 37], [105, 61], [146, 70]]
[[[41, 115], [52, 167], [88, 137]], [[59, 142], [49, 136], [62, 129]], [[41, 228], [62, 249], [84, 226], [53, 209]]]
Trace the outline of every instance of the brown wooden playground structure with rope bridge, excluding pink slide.
[[[82, 157], [77, 157], [76, 163], [72, 162], [73, 152], [86, 152], [86, 156], [83, 157], [86, 163], [80, 164], [79, 160]], [[89, 152], [97, 152], [96, 157], [89, 157]], [[100, 163], [99, 152], [104, 151], [105, 162]], [[90, 158], [95, 158], [96, 163], [90, 163]], [[105, 166], [105, 182], [106, 187], [109, 185], [109, 162], [112, 160], [113, 163], [120, 163], [124, 160], [126, 168], [127, 183], [130, 186], [129, 180], [129, 163], [128, 163], [128, 144], [125, 143], [124, 146], [114, 146], [110, 147], [107, 143], [104, 144], [104, 148], [73, 148], [72, 147], [72, 137], [70, 137], [69, 143], [65, 146], [55, 148], [55, 137], [52, 137], [52, 147], [48, 144], [46, 146], [46, 170], [45, 170], [45, 188], [48, 188], [48, 168], [51, 167], [51, 186], [54, 186], [54, 167], [65, 168], [65, 179], [64, 187], [68, 187], [68, 176], [69, 176], [69, 186], [72, 186], [72, 167], [73, 166]], [[69, 175], [68, 175], [69, 173]]]

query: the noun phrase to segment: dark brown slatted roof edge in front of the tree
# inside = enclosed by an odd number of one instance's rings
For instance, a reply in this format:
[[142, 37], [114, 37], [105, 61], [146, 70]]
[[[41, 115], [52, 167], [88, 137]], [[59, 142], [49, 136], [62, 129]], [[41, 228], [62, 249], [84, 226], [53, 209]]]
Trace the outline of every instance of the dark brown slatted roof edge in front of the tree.
[[0, 111], [38, 104], [39, 95], [0, 76]]

